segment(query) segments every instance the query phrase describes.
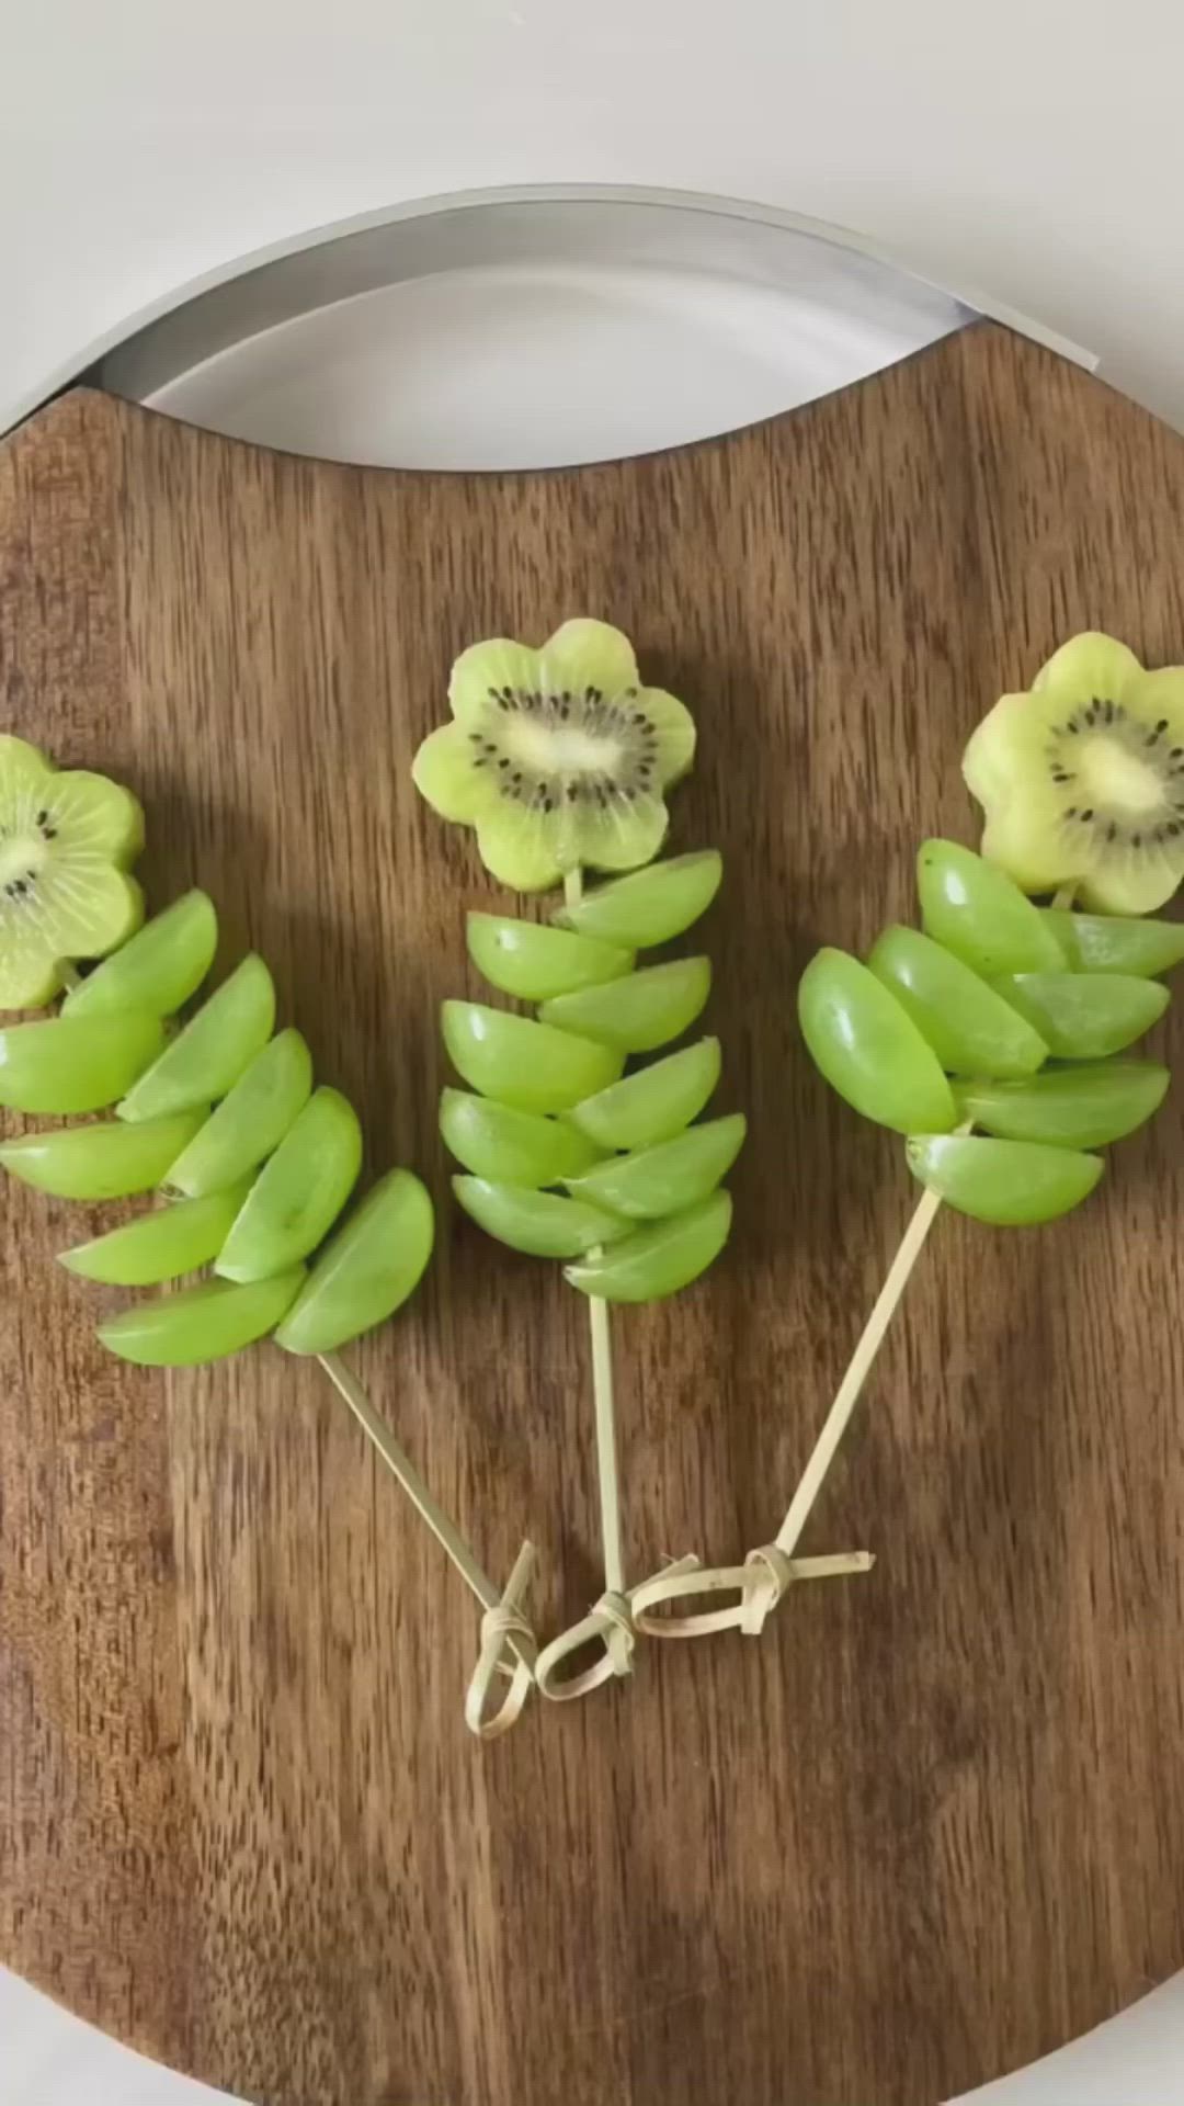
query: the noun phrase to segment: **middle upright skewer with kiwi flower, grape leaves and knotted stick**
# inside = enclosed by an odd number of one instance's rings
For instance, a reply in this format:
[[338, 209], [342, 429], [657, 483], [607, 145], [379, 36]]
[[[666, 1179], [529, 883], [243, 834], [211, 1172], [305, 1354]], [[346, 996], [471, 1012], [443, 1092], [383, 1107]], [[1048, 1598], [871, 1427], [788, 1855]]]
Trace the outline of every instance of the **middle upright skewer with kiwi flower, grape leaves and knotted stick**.
[[[447, 1089], [440, 1101], [440, 1131], [468, 1171], [453, 1179], [459, 1205], [512, 1249], [571, 1257], [565, 1276], [590, 1304], [605, 1586], [539, 1653], [539, 1689], [563, 1702], [628, 1674], [634, 1653], [609, 1304], [678, 1293], [731, 1224], [721, 1179], [744, 1120], [691, 1125], [718, 1078], [716, 1040], [621, 1080], [626, 1057], [666, 1049], [708, 998], [708, 958], [636, 971], [634, 954], [697, 920], [723, 861], [714, 851], [653, 861], [664, 790], [687, 773], [695, 731], [683, 703], [640, 684], [632, 644], [607, 623], [569, 621], [541, 651], [474, 644], [449, 699], [453, 724], [419, 748], [417, 788], [445, 819], [476, 828], [501, 882], [563, 880], [558, 927], [470, 914], [474, 965], [539, 1015], [445, 1002], [447, 1051], [476, 1095]], [[586, 868], [611, 882], [586, 891]], [[590, 1645], [594, 1664], [569, 1672]]]

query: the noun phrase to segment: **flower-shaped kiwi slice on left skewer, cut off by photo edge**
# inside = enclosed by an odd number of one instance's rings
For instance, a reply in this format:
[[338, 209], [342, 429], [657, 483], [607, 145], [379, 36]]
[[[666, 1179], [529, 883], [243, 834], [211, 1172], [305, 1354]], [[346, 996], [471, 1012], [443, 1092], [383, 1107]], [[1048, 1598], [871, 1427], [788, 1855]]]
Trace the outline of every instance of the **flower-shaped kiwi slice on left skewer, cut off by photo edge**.
[[126, 866], [141, 847], [131, 790], [0, 735], [0, 1009], [40, 1009], [65, 958], [101, 958], [139, 927]]

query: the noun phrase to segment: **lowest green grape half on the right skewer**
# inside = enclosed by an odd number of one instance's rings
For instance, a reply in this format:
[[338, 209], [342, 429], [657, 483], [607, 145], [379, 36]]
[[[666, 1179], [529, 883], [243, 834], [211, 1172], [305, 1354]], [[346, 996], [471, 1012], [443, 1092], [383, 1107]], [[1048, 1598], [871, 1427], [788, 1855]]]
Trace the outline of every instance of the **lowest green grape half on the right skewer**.
[[986, 1141], [975, 1133], [914, 1133], [908, 1167], [946, 1207], [994, 1228], [1055, 1221], [1089, 1198], [1104, 1169], [1102, 1156], [1074, 1148]]

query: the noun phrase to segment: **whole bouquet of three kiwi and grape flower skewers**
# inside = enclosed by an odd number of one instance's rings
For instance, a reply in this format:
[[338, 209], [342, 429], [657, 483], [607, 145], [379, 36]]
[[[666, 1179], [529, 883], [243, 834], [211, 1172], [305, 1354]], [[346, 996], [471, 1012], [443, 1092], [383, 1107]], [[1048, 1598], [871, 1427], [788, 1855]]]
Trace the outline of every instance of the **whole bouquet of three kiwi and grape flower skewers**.
[[[339, 1221], [358, 1118], [314, 1087], [301, 1034], [274, 1030], [265, 962], [242, 958], [202, 998], [213, 901], [190, 891], [145, 922], [137, 800], [19, 737], [0, 737], [0, 1005], [61, 1007], [0, 1030], [0, 1106], [86, 1122], [21, 1131], [0, 1165], [59, 1198], [158, 1196], [61, 1253], [105, 1287], [171, 1289], [99, 1323], [112, 1352], [188, 1367], [272, 1337], [320, 1360], [480, 1603], [466, 1721], [491, 1737], [533, 1687], [569, 1700], [628, 1674], [643, 1632], [756, 1634], [790, 1584], [870, 1569], [866, 1552], [798, 1556], [798, 1542], [940, 1207], [990, 1228], [1068, 1213], [1104, 1173], [1098, 1150], [1167, 1091], [1167, 1070], [1129, 1049], [1184, 958], [1184, 927], [1146, 918], [1184, 876], [1184, 668], [1144, 672], [1098, 634], [1064, 644], [967, 746], [982, 853], [923, 842], [921, 929], [885, 929], [866, 960], [826, 948], [807, 967], [813, 1061], [904, 1137], [925, 1190], [777, 1535], [742, 1565], [683, 1556], [640, 1582], [621, 1563], [611, 1312], [676, 1295], [718, 1259], [723, 1179], [746, 1139], [739, 1112], [702, 1116], [718, 1038], [674, 1049], [706, 1007], [710, 958], [649, 960], [723, 882], [714, 849], [655, 859], [695, 727], [643, 682], [619, 630], [586, 619], [541, 649], [474, 644], [449, 697], [451, 722], [415, 758], [423, 798], [474, 830], [501, 885], [556, 895], [548, 918], [468, 916], [476, 971], [535, 1013], [445, 1002], [466, 1087], [445, 1087], [440, 1133], [459, 1207], [510, 1249], [560, 1259], [588, 1299], [605, 1567], [590, 1613], [537, 1649], [522, 1609], [533, 1548], [499, 1592], [339, 1358], [417, 1287], [428, 1192], [394, 1169]], [[603, 882], [586, 887], [588, 870]], [[687, 1609], [691, 1596], [708, 1605]]]

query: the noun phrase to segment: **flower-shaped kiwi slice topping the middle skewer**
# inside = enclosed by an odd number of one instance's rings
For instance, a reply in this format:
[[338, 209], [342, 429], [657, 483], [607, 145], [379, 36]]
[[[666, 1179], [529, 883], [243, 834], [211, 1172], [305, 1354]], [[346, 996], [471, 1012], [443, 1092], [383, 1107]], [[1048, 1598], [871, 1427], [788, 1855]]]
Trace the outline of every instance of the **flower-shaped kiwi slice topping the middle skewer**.
[[689, 710], [643, 687], [628, 636], [565, 621], [535, 651], [493, 638], [453, 665], [453, 722], [415, 756], [415, 783], [476, 828], [485, 868], [520, 893], [569, 870], [634, 870], [666, 836], [664, 792], [695, 754]]

